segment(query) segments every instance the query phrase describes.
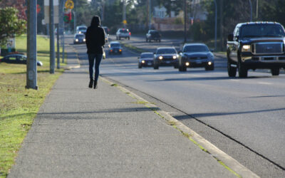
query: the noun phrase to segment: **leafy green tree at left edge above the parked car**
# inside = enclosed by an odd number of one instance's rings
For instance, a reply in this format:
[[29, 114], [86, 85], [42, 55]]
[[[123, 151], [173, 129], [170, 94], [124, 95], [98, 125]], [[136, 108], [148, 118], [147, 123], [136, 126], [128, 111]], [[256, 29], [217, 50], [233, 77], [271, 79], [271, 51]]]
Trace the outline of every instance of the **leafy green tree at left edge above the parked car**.
[[19, 19], [18, 10], [13, 7], [0, 9], [0, 43], [4, 45], [8, 38], [26, 33], [26, 21]]

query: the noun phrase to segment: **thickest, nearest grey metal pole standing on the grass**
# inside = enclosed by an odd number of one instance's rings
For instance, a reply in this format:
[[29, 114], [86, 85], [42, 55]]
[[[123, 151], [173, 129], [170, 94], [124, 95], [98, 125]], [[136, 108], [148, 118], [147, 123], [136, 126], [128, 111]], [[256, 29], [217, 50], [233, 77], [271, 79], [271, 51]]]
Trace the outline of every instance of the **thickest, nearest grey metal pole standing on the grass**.
[[26, 88], [38, 90], [36, 85], [36, 1], [28, 0]]

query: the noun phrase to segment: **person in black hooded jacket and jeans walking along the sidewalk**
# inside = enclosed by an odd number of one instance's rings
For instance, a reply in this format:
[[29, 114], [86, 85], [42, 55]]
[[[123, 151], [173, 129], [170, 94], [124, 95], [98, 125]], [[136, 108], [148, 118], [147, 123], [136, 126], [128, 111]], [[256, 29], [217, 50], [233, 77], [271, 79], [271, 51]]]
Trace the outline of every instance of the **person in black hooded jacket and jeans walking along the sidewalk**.
[[[86, 31], [86, 47], [89, 60], [89, 75], [90, 82], [89, 88], [96, 89], [98, 87], [99, 66], [103, 57], [103, 48], [105, 45], [105, 32], [100, 27], [100, 17], [93, 16], [90, 26]], [[94, 73], [94, 60], [95, 60], [95, 77]]]

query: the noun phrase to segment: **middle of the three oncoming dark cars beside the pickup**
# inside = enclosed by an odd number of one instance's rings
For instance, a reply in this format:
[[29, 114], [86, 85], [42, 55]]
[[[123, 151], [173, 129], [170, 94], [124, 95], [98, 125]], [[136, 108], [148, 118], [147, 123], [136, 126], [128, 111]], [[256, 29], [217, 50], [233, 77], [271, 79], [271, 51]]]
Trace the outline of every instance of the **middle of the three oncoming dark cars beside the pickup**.
[[178, 67], [178, 55], [175, 48], [157, 48], [153, 60], [153, 68], [158, 69], [159, 66], [174, 66], [175, 68]]

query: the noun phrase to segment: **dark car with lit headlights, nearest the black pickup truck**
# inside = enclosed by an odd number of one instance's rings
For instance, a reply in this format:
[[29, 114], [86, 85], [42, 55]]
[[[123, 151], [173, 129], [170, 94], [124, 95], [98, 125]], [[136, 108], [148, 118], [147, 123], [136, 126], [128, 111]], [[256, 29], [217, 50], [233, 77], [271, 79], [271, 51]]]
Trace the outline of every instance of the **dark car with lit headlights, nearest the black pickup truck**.
[[178, 63], [181, 72], [186, 71], [187, 68], [214, 70], [214, 55], [203, 43], [188, 43], [183, 46]]

